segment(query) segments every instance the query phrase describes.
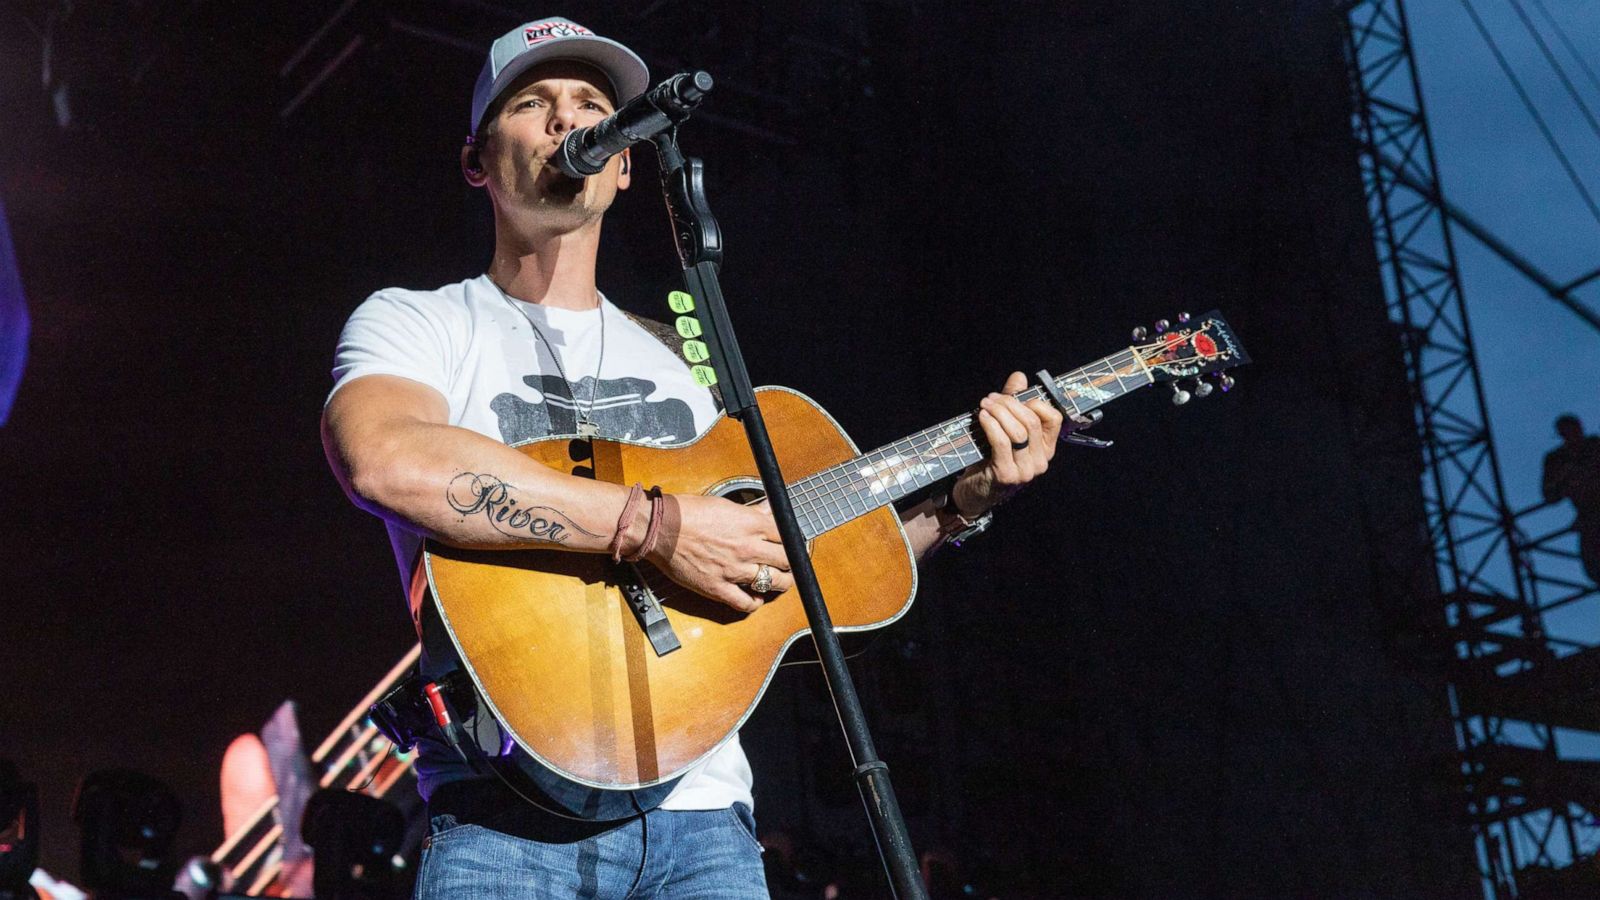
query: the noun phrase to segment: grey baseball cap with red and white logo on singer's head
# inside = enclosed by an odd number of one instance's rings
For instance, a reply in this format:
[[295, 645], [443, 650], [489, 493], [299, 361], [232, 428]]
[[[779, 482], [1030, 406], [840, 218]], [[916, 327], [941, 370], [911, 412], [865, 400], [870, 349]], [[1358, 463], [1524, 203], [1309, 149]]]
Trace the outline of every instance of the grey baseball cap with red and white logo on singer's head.
[[472, 88], [472, 133], [478, 133], [483, 114], [517, 75], [547, 59], [576, 59], [600, 69], [611, 78], [618, 104], [650, 86], [645, 61], [621, 43], [560, 16], [525, 22], [490, 45], [490, 58]]

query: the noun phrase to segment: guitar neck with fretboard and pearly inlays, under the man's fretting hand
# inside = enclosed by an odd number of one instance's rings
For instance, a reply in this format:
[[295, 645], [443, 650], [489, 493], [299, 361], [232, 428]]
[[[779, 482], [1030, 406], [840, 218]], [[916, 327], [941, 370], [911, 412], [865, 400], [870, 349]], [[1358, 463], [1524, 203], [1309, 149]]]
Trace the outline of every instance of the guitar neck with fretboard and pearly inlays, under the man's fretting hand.
[[[1130, 348], [1054, 381], [1072, 412], [1082, 415], [1150, 384], [1154, 376]], [[1022, 402], [1038, 397], [1046, 394], [1037, 384], [1018, 394]], [[789, 496], [800, 528], [806, 538], [814, 538], [947, 479], [987, 455], [989, 444], [973, 413], [966, 413], [800, 479], [789, 485]]]

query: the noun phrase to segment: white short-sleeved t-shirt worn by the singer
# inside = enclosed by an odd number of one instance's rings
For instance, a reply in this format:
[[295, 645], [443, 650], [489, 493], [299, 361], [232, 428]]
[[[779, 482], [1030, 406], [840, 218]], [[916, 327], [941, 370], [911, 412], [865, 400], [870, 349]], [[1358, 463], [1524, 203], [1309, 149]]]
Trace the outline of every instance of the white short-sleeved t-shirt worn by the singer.
[[[339, 335], [328, 397], [363, 375], [427, 384], [450, 402], [450, 424], [506, 444], [576, 434], [590, 392], [587, 418], [603, 437], [683, 444], [717, 416], [710, 392], [694, 383], [688, 365], [610, 299], [602, 298], [598, 309], [549, 309], [509, 299], [488, 275], [366, 298]], [[387, 527], [408, 586], [421, 536], [395, 522]], [[661, 806], [723, 809], [734, 802], [754, 806], [750, 764], [738, 735], [690, 769]]]

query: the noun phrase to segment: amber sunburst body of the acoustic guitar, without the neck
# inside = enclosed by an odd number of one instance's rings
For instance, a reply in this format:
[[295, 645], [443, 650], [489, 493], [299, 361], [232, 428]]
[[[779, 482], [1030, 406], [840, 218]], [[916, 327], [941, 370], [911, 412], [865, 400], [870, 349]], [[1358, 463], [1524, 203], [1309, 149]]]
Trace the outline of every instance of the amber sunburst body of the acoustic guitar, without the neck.
[[[790, 484], [858, 456], [808, 397], [762, 388], [757, 402]], [[517, 450], [552, 469], [667, 493], [760, 490], [744, 428], [726, 416], [672, 447], [562, 436]], [[722, 746], [808, 631], [797, 591], [744, 615], [638, 564], [682, 642], [658, 657], [619, 588], [626, 569], [603, 554], [429, 541], [424, 559], [450, 637], [494, 716], [546, 767], [594, 788], [659, 785]], [[917, 591], [893, 506], [816, 536], [811, 559], [837, 631], [888, 625]]]

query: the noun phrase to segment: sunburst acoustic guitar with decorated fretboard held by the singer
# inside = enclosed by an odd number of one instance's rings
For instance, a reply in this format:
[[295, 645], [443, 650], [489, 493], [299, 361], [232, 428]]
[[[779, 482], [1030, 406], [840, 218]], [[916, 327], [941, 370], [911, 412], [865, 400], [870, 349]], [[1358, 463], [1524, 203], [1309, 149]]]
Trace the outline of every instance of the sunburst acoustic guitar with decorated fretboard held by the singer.
[[[1082, 415], [1173, 383], [1173, 399], [1186, 402], [1227, 389], [1224, 370], [1248, 362], [1216, 312], [1179, 317], [1149, 336], [1136, 330], [1134, 340], [1066, 375], [1042, 372], [1019, 399], [1050, 397]], [[1200, 378], [1211, 373], [1216, 384]], [[984, 458], [987, 442], [973, 415], [861, 453], [795, 391], [762, 388], [757, 402], [835, 628], [898, 620], [917, 593], [917, 565], [893, 503]], [[517, 450], [614, 484], [739, 501], [762, 495], [744, 429], [726, 416], [672, 447], [557, 436]], [[430, 541], [424, 562], [450, 639], [494, 717], [544, 767], [589, 788], [651, 788], [709, 756], [749, 717], [784, 652], [808, 633], [792, 593], [746, 615], [648, 564], [614, 565], [603, 554]]]

